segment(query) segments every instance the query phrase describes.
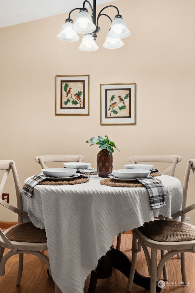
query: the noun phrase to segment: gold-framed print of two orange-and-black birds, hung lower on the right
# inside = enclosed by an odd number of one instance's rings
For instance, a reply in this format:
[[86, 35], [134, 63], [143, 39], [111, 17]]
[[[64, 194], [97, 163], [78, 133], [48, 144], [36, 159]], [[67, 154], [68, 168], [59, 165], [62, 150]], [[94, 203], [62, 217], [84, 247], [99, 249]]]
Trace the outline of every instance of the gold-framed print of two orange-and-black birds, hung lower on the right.
[[100, 85], [101, 124], [136, 124], [136, 84]]

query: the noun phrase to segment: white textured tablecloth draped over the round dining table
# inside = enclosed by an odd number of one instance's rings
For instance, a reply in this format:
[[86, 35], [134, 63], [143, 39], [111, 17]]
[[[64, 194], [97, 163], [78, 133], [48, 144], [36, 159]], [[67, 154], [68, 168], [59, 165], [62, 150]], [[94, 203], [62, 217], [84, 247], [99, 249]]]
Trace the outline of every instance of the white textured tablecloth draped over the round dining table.
[[75, 185], [37, 185], [23, 210], [35, 226], [46, 229], [52, 277], [63, 293], [83, 293], [84, 281], [119, 232], [181, 208], [179, 179], [161, 175], [166, 205], [151, 210], [144, 187], [101, 185], [98, 175]]

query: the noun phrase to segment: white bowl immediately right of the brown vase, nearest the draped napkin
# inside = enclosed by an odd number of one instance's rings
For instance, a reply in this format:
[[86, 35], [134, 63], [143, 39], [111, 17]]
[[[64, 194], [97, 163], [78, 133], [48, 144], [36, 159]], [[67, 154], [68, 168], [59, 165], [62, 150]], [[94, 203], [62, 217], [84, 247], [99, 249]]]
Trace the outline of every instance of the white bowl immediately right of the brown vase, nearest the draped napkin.
[[119, 169], [112, 172], [115, 176], [123, 179], [145, 178], [150, 174], [149, 170], [143, 169]]

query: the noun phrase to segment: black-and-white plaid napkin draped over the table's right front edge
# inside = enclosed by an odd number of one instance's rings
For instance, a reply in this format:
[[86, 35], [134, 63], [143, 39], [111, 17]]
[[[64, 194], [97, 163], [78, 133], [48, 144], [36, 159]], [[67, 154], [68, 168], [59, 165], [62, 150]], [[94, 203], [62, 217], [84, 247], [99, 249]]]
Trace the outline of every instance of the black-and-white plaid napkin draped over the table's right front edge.
[[165, 206], [165, 188], [161, 182], [152, 176], [146, 178], [136, 178], [147, 190], [150, 200], [151, 209], [161, 208]]

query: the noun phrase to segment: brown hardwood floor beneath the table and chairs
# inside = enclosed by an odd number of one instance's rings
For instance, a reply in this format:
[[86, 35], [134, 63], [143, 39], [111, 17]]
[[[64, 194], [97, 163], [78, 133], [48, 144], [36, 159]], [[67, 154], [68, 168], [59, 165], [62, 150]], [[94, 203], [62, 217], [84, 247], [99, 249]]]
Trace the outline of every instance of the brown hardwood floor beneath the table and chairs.
[[[122, 234], [121, 250], [131, 259], [132, 234]], [[116, 238], [114, 246], [116, 245]], [[160, 258], [160, 254], [158, 255]], [[189, 281], [187, 286], [181, 287], [182, 281], [180, 260], [177, 256], [167, 263], [169, 280], [161, 289], [161, 293], [194, 293], [195, 292], [195, 254], [186, 253], [186, 274]], [[18, 256], [12, 256], [5, 268], [5, 276], [0, 277], [1, 293], [54, 293], [54, 282], [47, 275], [45, 264], [36, 256], [24, 255], [23, 277], [20, 286], [16, 287]], [[148, 276], [144, 253], [140, 252], [137, 258], [137, 271]], [[89, 277], [87, 277], [84, 293], [87, 293]], [[127, 278], [118, 270], [113, 269], [110, 278], [98, 280], [95, 293], [126, 293]], [[148, 293], [149, 291], [133, 284], [132, 293]], [[64, 292], [74, 293], [74, 292]]]

